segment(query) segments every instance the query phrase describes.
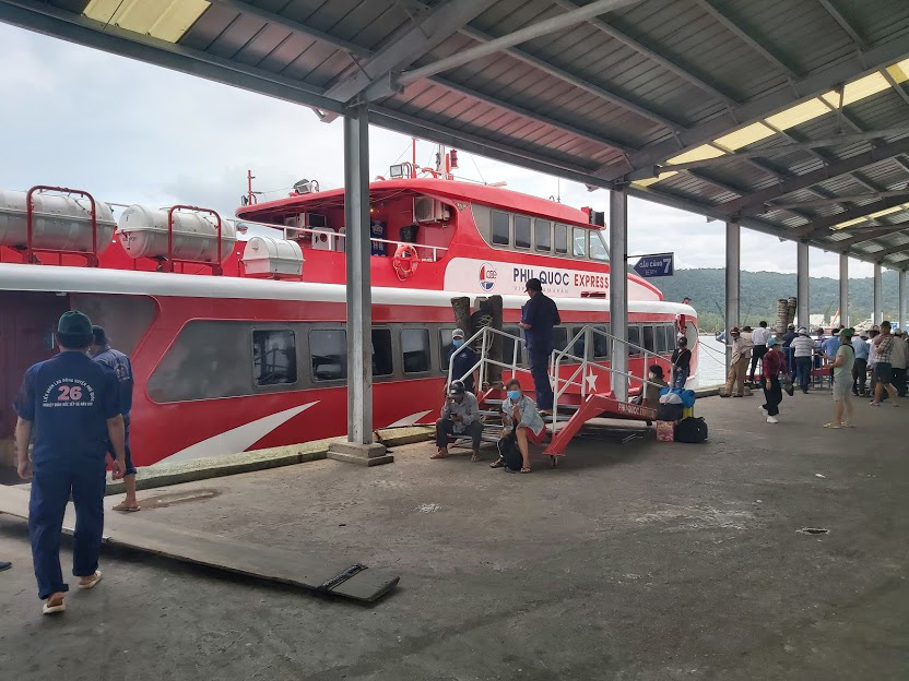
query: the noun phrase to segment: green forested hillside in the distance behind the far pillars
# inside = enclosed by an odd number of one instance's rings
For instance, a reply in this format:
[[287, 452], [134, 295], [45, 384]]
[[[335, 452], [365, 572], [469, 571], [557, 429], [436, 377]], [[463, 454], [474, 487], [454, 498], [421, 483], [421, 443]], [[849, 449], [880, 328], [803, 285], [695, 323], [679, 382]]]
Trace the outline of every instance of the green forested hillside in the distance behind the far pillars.
[[[700, 327], [721, 327], [725, 299], [724, 270], [676, 270], [675, 275], [653, 283], [663, 291], [666, 300], [681, 301], [685, 296], [698, 311]], [[741, 280], [741, 322], [754, 326], [762, 319], [774, 321], [778, 298], [795, 295], [795, 274], [776, 272], [743, 272]], [[874, 282], [871, 277], [849, 279], [849, 316], [853, 323], [871, 316]], [[719, 309], [718, 307], [719, 306]], [[812, 314], [830, 315], [839, 307], [839, 282], [829, 277], [811, 278]], [[883, 274], [884, 319], [897, 314], [897, 273]]]

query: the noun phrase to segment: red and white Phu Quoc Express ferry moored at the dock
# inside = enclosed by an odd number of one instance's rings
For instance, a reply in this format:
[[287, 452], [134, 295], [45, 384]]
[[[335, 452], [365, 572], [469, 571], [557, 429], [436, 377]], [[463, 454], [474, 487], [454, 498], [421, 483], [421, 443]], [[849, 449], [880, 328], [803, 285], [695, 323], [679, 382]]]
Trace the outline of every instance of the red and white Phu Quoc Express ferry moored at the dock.
[[[456, 327], [452, 298], [500, 295], [504, 331], [519, 337], [524, 285], [538, 277], [559, 308], [558, 349], [583, 325], [610, 325], [602, 214], [456, 180], [447, 168], [406, 166], [369, 189], [377, 429], [437, 418]], [[343, 190], [302, 182], [281, 200], [257, 203], [250, 192], [244, 203], [236, 219], [191, 206], [131, 205], [115, 223], [110, 205], [87, 192], [0, 192], [7, 461], [23, 372], [56, 353], [57, 319], [71, 309], [102, 324], [113, 347], [132, 359], [137, 465], [345, 432]], [[693, 308], [663, 301], [631, 274], [628, 299], [631, 373], [646, 372], [637, 346], [666, 368], [677, 333], [696, 346]], [[592, 337], [574, 354], [607, 363], [610, 344]], [[600, 373], [597, 390], [607, 391], [610, 377]], [[529, 373], [521, 380], [532, 390]]]

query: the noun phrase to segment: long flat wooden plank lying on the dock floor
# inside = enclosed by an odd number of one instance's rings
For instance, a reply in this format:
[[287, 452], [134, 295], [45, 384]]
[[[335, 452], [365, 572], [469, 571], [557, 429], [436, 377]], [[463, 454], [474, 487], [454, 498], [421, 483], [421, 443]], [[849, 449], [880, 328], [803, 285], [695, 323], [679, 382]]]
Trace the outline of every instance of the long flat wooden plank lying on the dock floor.
[[[0, 485], [0, 513], [27, 519], [28, 491]], [[75, 513], [67, 506], [63, 529], [72, 534]], [[194, 529], [129, 516], [105, 515], [105, 542], [235, 574], [280, 582], [305, 589], [373, 602], [391, 590], [399, 576], [381, 570], [353, 568], [349, 561], [245, 543]], [[337, 582], [340, 575], [352, 574]]]

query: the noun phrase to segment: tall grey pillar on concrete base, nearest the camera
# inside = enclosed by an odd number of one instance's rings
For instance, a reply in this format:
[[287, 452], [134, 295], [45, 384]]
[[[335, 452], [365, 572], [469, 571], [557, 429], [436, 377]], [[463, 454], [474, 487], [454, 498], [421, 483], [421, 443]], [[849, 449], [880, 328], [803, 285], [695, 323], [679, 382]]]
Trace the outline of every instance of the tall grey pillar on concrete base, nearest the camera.
[[347, 442], [329, 457], [374, 466], [394, 458], [373, 442], [373, 295], [369, 285], [368, 107], [344, 117], [344, 226], [347, 276]]

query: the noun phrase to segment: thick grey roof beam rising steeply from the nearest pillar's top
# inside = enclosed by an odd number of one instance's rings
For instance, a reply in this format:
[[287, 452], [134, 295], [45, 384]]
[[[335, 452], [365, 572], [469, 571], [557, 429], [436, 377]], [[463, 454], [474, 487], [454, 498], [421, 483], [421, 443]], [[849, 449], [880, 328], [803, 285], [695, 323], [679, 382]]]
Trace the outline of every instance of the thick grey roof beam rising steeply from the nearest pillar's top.
[[[426, 55], [489, 8], [487, 0], [447, 0], [434, 7], [418, 23], [412, 22], [357, 70], [332, 85], [326, 95], [349, 103], [364, 89]], [[337, 117], [327, 117], [331, 122]]]

